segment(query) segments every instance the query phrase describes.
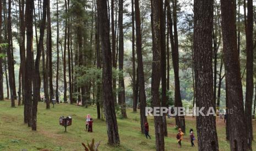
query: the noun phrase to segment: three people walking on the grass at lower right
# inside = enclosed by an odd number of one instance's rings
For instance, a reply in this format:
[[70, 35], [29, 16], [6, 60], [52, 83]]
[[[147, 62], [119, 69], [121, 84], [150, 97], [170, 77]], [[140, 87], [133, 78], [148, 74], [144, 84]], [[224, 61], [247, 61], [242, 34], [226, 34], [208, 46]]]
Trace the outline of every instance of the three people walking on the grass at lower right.
[[[145, 126], [146, 139], [148, 139], [148, 137], [149, 137], [149, 139], [151, 139], [151, 136], [149, 135], [149, 123], [146, 122], [144, 126]], [[178, 129], [176, 138], [177, 138], [179, 147], [181, 147], [181, 141], [183, 140], [183, 135], [184, 135], [184, 133], [182, 132], [182, 130]], [[194, 147], [195, 146], [195, 144], [194, 144], [195, 136], [194, 136], [193, 129], [189, 130], [189, 137], [190, 137], [191, 146]]]

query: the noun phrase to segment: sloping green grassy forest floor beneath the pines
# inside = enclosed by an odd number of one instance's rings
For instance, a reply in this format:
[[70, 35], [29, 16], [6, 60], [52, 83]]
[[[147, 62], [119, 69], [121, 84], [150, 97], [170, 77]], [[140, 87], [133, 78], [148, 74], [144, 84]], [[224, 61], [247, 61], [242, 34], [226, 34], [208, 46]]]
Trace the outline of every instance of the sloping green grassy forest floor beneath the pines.
[[[52, 107], [52, 105], [51, 105]], [[39, 102], [37, 115], [37, 131], [31, 131], [30, 127], [23, 123], [23, 106], [10, 107], [10, 101], [0, 101], [0, 150], [84, 150], [81, 142], [87, 144], [92, 138], [100, 141], [99, 150], [155, 150], [155, 134], [153, 118], [149, 117], [151, 140], [140, 133], [139, 112], [133, 113], [127, 109], [128, 119], [118, 118], [118, 130], [121, 140], [119, 147], [107, 145], [107, 131], [104, 121], [96, 119], [96, 107], [84, 108], [70, 104], [56, 104], [55, 108], [45, 109], [45, 103]], [[85, 131], [85, 116], [91, 114], [94, 118], [93, 132]], [[72, 126], [59, 125], [59, 117], [70, 115], [73, 118]], [[118, 116], [117, 116], [118, 117]], [[220, 150], [230, 150], [226, 141], [224, 120], [217, 118], [217, 135]], [[175, 119], [167, 119], [168, 137], [165, 138], [166, 150], [181, 150], [176, 140], [177, 130]], [[198, 150], [197, 140], [195, 147], [190, 147], [188, 131], [196, 130], [195, 118], [186, 117], [186, 132], [182, 141], [182, 150]], [[253, 120], [254, 138], [256, 138], [256, 121]], [[196, 131], [195, 131], [196, 133]], [[195, 136], [197, 136], [195, 134]], [[256, 142], [253, 142], [253, 150], [256, 150]]]

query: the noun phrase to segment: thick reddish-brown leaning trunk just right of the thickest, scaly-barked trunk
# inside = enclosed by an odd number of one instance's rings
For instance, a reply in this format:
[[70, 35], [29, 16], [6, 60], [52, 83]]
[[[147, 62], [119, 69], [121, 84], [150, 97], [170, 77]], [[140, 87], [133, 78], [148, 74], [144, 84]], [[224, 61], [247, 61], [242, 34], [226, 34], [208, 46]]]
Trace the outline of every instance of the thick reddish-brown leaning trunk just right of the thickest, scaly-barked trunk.
[[[244, 119], [243, 91], [240, 65], [237, 51], [235, 3], [233, 0], [221, 0], [221, 23], [223, 34], [224, 64], [227, 84], [228, 132], [231, 150], [246, 150], [246, 120]], [[231, 15], [231, 16], [230, 16]], [[233, 16], [233, 17], [232, 17]]]

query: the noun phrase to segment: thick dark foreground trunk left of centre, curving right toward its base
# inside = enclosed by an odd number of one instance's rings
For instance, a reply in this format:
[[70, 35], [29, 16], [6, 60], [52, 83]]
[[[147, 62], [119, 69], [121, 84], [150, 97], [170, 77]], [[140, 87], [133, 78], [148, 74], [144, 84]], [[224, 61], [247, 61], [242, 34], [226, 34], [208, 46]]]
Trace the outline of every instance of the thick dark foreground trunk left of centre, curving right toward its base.
[[97, 14], [100, 18], [100, 39], [102, 43], [102, 88], [104, 113], [107, 124], [108, 144], [120, 143], [116, 119], [115, 103], [112, 91], [112, 62], [110, 48], [110, 25], [107, 17], [107, 2], [97, 0]]

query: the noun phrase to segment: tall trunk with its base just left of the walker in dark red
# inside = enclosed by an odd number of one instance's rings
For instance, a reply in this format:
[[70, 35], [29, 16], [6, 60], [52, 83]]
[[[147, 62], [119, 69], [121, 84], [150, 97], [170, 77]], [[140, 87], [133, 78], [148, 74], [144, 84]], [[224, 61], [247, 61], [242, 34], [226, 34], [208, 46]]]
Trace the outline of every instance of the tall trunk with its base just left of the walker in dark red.
[[[136, 26], [136, 51], [138, 62], [138, 82], [139, 82], [139, 101], [140, 101], [140, 128], [141, 133], [145, 133], [145, 123], [148, 121], [145, 115], [146, 107], [146, 92], [145, 92], [145, 79], [143, 70], [143, 56], [141, 48], [141, 25], [140, 25], [140, 8], [139, 0], [134, 0], [135, 8], [135, 26]], [[138, 90], [138, 89], [137, 89]]]

